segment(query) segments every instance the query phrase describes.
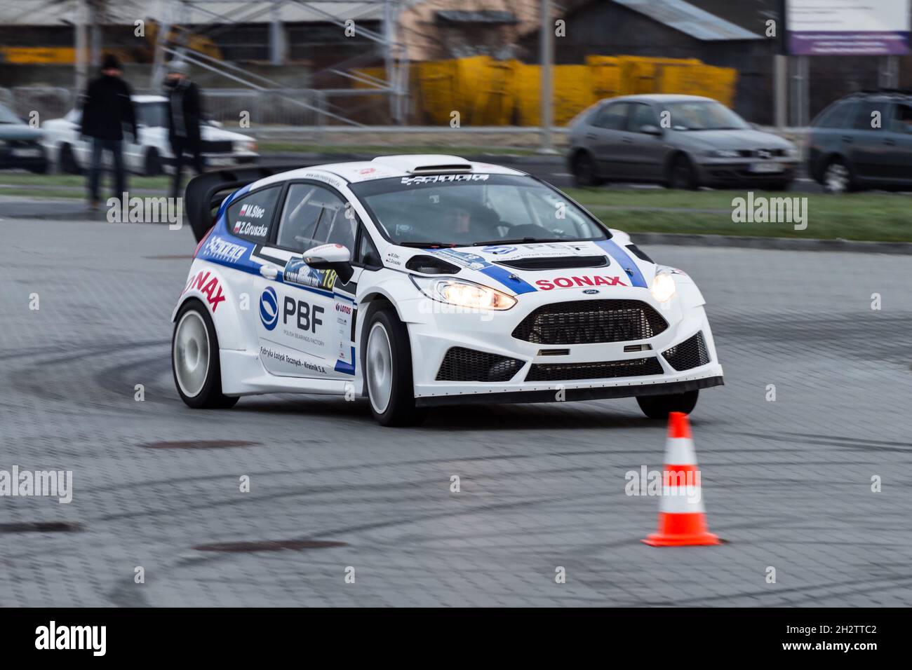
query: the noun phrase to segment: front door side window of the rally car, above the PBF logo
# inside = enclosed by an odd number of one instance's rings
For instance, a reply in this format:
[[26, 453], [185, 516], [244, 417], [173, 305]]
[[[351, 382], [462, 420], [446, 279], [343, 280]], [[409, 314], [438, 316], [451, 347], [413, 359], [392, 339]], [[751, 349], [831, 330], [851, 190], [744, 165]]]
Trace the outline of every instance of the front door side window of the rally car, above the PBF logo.
[[316, 184], [292, 184], [285, 197], [277, 244], [296, 252], [326, 242], [352, 249], [357, 227], [358, 217], [354, 212], [346, 216], [345, 202], [334, 191]]

